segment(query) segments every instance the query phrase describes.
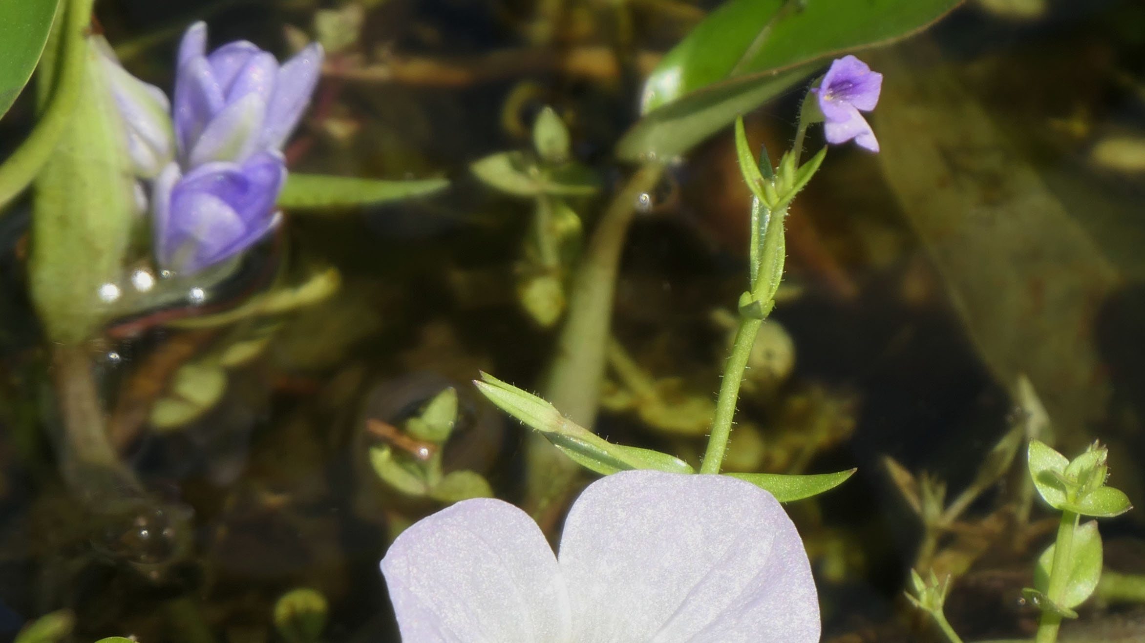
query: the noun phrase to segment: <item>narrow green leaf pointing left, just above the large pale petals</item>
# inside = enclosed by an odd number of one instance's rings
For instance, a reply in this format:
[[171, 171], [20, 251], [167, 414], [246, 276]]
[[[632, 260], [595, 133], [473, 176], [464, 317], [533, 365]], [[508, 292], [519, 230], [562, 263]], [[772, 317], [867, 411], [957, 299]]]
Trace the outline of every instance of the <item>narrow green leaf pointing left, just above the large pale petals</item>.
[[694, 469], [679, 458], [649, 448], [613, 444], [564, 418], [555, 406], [544, 399], [488, 373], [482, 373], [481, 378], [484, 381], [473, 383], [482, 395], [502, 411], [544, 434], [548, 442], [586, 469], [606, 476], [627, 469], [694, 473]]

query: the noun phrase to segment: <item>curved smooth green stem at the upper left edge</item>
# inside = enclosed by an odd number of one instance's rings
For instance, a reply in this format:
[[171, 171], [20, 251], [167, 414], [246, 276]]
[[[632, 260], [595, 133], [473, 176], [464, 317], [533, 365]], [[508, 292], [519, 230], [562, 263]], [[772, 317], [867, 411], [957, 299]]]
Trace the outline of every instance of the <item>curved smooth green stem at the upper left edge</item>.
[[[84, 86], [87, 25], [94, 0], [71, 0], [64, 14], [63, 61], [55, 73], [55, 92], [35, 128], [0, 165], [0, 207], [18, 196], [47, 162], [71, 121]], [[46, 54], [47, 57], [47, 54]], [[42, 73], [42, 70], [41, 70]]]

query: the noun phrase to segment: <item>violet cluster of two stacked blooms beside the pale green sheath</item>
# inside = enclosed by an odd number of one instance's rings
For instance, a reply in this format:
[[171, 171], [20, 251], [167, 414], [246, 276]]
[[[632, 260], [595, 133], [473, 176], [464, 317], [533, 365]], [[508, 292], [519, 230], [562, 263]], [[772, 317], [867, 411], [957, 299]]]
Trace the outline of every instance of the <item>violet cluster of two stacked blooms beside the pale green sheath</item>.
[[207, 54], [206, 38], [206, 24], [196, 23], [179, 47], [177, 162], [152, 195], [156, 260], [180, 273], [230, 259], [278, 225], [281, 149], [310, 102], [323, 57], [314, 43], [279, 66], [246, 41]]

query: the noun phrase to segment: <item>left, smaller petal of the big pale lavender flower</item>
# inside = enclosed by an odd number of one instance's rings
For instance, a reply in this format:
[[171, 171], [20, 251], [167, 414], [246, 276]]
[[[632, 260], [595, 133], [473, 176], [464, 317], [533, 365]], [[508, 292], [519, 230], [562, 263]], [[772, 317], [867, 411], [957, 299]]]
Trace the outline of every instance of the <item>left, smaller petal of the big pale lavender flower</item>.
[[409, 643], [569, 641], [569, 608], [544, 534], [524, 511], [464, 500], [417, 522], [381, 561]]

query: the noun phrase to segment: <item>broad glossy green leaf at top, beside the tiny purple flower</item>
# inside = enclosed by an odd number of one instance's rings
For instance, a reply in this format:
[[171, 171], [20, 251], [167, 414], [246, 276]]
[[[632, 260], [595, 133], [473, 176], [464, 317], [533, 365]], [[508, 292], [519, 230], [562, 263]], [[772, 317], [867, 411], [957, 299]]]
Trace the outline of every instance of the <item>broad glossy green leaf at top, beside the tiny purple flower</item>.
[[960, 2], [731, 0], [648, 77], [645, 118], [625, 134], [617, 154], [630, 160], [680, 154], [799, 82], [827, 57], [910, 35]]

